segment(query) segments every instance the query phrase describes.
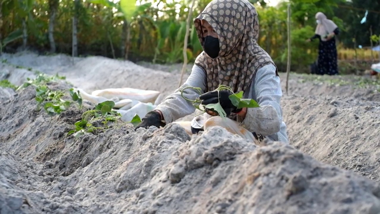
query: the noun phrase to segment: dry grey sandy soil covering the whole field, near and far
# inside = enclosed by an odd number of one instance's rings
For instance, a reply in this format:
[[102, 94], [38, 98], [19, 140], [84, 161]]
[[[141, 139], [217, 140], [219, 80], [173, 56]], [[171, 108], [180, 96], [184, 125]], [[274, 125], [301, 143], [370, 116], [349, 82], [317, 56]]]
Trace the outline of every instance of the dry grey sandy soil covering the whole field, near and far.
[[[161, 99], [180, 76], [180, 65], [104, 57], [2, 60], [0, 79], [15, 85], [38, 70], [88, 92], [131, 87], [161, 91]], [[190, 137], [176, 124], [75, 138], [67, 132], [92, 106], [48, 116], [36, 110], [33, 86], [0, 88], [0, 214], [380, 213], [379, 86], [291, 74], [287, 95], [280, 77], [290, 145], [256, 146], [220, 127]]]

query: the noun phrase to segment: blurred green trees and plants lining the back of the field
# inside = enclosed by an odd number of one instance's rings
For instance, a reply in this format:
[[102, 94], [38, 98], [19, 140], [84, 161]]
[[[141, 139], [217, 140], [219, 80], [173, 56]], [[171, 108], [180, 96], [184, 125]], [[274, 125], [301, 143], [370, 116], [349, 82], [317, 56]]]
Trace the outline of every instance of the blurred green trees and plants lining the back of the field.
[[[196, 0], [192, 20], [211, 0]], [[287, 3], [273, 7], [250, 0], [259, 14], [259, 44], [278, 64], [287, 60]], [[30, 48], [40, 53], [74, 56], [102, 55], [131, 61], [182, 62], [190, 0], [1, 0], [1, 51]], [[341, 29], [339, 59], [378, 60], [376, 51], [353, 50], [379, 44], [380, 3], [372, 0], [290, 0], [292, 69], [307, 67], [317, 58], [318, 42], [305, 42], [314, 34], [315, 13], [322, 11]], [[135, 6], [136, 5], [136, 6]], [[365, 10], [367, 22], [361, 24]], [[191, 25], [193, 26], [193, 25]], [[189, 61], [202, 48], [192, 27], [188, 38]]]

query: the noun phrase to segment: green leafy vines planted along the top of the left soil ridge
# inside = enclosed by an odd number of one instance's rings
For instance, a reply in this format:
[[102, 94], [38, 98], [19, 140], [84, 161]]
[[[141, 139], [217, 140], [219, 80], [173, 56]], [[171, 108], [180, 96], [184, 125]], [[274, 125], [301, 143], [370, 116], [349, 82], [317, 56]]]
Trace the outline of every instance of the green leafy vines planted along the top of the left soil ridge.
[[[74, 91], [73, 88], [66, 90], [52, 90], [49, 88], [49, 84], [59, 80], [65, 80], [66, 77], [49, 76], [44, 73], [39, 73], [35, 79], [27, 78], [27, 81], [19, 87], [9, 83], [8, 80], [2, 80], [0, 86], [10, 87], [16, 91], [20, 91], [28, 86], [35, 86], [36, 95], [35, 100], [37, 102], [37, 110], [41, 110], [41, 106], [48, 113], [48, 115], [60, 114], [67, 110], [72, 104], [76, 104], [79, 109], [82, 109], [82, 97], [79, 91]], [[71, 100], [65, 100], [63, 97], [70, 95]], [[120, 122], [115, 128], [122, 126], [120, 119], [120, 113], [112, 110], [115, 106], [113, 101], [105, 101], [97, 104], [94, 109], [87, 110], [82, 114], [82, 120], [77, 121], [73, 126], [73, 130], [68, 132], [68, 135], [74, 134], [79, 137], [85, 132], [95, 133], [97, 130], [105, 130], [110, 128], [109, 123]], [[141, 123], [140, 117], [136, 114], [133, 119], [127, 123], [132, 123], [136, 126]]]

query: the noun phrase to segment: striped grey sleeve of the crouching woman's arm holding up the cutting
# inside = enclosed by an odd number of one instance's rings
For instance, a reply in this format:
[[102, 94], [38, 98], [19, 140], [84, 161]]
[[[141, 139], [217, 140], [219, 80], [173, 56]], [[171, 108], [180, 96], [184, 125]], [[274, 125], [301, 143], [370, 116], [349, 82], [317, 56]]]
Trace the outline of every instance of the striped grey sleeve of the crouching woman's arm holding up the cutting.
[[242, 125], [251, 132], [269, 136], [280, 131], [282, 109], [280, 99], [282, 90], [280, 78], [275, 74], [275, 66], [265, 65], [257, 70], [251, 84], [251, 96], [260, 105], [258, 108], [248, 108]]

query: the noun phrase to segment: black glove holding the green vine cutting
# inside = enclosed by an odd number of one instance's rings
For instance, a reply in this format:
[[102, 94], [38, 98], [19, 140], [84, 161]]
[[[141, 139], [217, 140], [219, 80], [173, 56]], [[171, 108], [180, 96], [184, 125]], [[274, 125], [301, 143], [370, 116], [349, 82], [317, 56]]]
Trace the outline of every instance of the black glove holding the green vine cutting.
[[236, 106], [234, 106], [228, 96], [230, 96], [231, 91], [219, 91], [219, 99], [218, 99], [218, 91], [210, 91], [205, 94], [202, 94], [199, 96], [199, 99], [202, 100], [201, 104], [202, 105], [207, 105], [207, 104], [215, 104], [217, 102], [220, 103], [222, 106], [223, 110], [226, 112], [227, 115], [230, 115], [232, 113], [238, 113], [241, 111], [241, 109], [237, 109]]

